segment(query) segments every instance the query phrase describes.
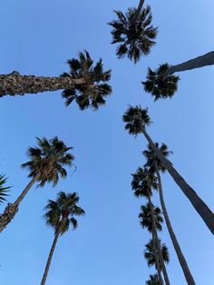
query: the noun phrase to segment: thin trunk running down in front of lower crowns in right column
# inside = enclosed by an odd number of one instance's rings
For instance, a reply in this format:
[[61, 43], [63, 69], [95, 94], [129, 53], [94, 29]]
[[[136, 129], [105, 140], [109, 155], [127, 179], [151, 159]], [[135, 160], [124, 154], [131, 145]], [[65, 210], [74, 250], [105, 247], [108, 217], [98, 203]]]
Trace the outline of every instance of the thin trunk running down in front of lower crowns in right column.
[[153, 229], [154, 229], [154, 238], [155, 238], [155, 241], [156, 241], [156, 247], [158, 249], [159, 257], [160, 257], [160, 266], [161, 266], [161, 270], [163, 272], [163, 276], [164, 276], [164, 280], [165, 280], [166, 285], [170, 285], [170, 280], [169, 280], [169, 277], [168, 277], [168, 274], [167, 274], [165, 263], [164, 263], [164, 260], [162, 258], [162, 251], [161, 251], [161, 248], [160, 248], [158, 232], [157, 232], [156, 224], [155, 224], [154, 209], [151, 206], [151, 198], [150, 198], [150, 196], [149, 196], [149, 201], [150, 201], [150, 207], [151, 207], [152, 226], [153, 226]]

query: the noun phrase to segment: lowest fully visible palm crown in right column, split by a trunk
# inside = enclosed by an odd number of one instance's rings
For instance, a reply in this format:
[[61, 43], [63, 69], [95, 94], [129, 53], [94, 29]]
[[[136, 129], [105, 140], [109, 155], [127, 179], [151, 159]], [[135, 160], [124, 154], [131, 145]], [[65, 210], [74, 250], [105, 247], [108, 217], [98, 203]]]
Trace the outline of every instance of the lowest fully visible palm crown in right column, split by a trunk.
[[[159, 240], [160, 242], [160, 240]], [[145, 245], [146, 249], [144, 251], [144, 258], [145, 260], [147, 260], [147, 264], [149, 267], [151, 267], [152, 265], [156, 266], [156, 262], [155, 262], [155, 253], [154, 253], [154, 247], [153, 247], [153, 242], [152, 240], [150, 242], [148, 242]], [[162, 253], [162, 257], [165, 263], [169, 263], [170, 261], [170, 254], [168, 251], [167, 246], [163, 243], [161, 244], [160, 242], [160, 248], [161, 248], [161, 253]]]

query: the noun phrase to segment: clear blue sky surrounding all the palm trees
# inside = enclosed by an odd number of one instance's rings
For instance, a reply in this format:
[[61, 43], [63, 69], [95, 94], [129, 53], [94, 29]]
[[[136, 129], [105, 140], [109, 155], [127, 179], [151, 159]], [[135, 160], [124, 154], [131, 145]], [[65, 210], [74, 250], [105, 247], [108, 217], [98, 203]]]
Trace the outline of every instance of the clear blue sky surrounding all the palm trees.
[[[111, 45], [113, 9], [125, 11], [138, 1], [7, 0], [1, 3], [0, 73], [58, 75], [66, 60], [87, 49], [112, 68], [112, 96], [98, 112], [64, 107], [60, 92], [5, 97], [1, 101], [0, 170], [14, 185], [10, 201], [29, 181], [20, 168], [35, 137], [58, 135], [74, 147], [77, 172], [69, 172], [56, 188], [32, 189], [15, 220], [1, 234], [0, 283], [37, 285], [44, 272], [53, 231], [44, 224], [43, 209], [58, 191], [78, 192], [86, 216], [79, 229], [60, 238], [47, 285], [141, 285], [154, 270], [142, 256], [149, 234], [139, 226], [141, 200], [131, 193], [131, 172], [143, 163], [145, 139], [125, 133], [122, 114], [129, 103], [148, 106], [154, 122], [148, 132], [167, 143], [171, 160], [199, 196], [214, 209], [214, 66], [180, 74], [171, 100], [153, 103], [140, 82], [148, 66], [178, 64], [213, 50], [212, 0], [146, 1], [159, 26], [157, 44], [139, 64], [118, 60]], [[214, 283], [213, 237], [190, 202], [171, 180], [163, 178], [171, 222], [197, 285]], [[158, 195], [155, 196], [158, 205]], [[4, 205], [0, 206], [1, 211]], [[173, 285], [186, 284], [170, 249], [168, 271]]]

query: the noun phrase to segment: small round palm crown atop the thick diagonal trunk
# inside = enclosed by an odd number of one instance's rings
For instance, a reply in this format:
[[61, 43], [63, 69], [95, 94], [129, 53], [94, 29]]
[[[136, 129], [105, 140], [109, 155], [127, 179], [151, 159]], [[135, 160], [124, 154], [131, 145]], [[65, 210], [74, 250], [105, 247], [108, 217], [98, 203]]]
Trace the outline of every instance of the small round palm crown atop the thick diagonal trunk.
[[122, 120], [125, 124], [125, 130], [130, 134], [137, 135], [141, 133], [146, 125], [151, 124], [151, 118], [148, 115], [148, 109], [142, 109], [141, 106], [130, 106], [123, 114]]

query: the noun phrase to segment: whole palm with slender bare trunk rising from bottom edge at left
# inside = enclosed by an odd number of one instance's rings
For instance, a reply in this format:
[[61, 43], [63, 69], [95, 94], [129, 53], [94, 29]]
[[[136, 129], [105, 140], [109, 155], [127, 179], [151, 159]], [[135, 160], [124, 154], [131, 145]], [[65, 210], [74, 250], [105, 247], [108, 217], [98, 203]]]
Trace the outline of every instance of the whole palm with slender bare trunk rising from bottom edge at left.
[[84, 211], [81, 207], [77, 206], [79, 197], [77, 193], [65, 193], [59, 192], [57, 200], [49, 200], [46, 205], [44, 219], [46, 224], [51, 226], [54, 230], [54, 239], [51, 251], [48, 256], [48, 260], [44, 270], [43, 280], [41, 285], [45, 284], [48, 271], [50, 269], [51, 261], [53, 258], [53, 251], [55, 250], [56, 243], [60, 235], [64, 232], [69, 231], [70, 225], [73, 226], [73, 230], [77, 228], [77, 221], [74, 216], [83, 216]]

